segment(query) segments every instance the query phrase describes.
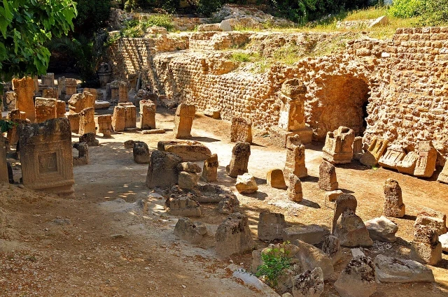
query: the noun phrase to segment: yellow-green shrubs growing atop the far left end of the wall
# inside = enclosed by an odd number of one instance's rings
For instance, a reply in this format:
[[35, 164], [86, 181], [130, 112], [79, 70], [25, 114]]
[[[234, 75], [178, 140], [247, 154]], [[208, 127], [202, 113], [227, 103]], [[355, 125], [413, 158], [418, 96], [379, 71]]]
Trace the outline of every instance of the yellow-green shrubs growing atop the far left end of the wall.
[[151, 26], [165, 27], [167, 31], [173, 31], [174, 24], [170, 15], [151, 15], [148, 20], [130, 20], [125, 23], [125, 29], [121, 32], [123, 37], [141, 38], [146, 34], [146, 29]]

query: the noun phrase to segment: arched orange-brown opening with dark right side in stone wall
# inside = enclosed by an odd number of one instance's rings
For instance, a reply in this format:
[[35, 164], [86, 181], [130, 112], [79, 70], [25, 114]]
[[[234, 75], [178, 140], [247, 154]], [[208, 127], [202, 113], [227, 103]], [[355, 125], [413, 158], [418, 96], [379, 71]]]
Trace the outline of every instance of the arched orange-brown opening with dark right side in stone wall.
[[370, 87], [361, 78], [332, 75], [316, 82], [316, 100], [311, 101], [311, 127], [317, 128], [318, 140], [325, 140], [328, 131], [347, 126], [363, 136], [367, 128], [367, 104]]

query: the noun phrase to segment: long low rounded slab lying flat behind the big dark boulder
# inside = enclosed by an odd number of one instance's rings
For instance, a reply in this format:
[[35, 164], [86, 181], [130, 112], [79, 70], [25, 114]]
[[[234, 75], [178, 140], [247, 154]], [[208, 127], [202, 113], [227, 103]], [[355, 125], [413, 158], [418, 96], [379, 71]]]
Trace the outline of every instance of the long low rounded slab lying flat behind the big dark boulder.
[[208, 147], [191, 140], [159, 141], [157, 149], [161, 152], [177, 154], [182, 158], [183, 162], [204, 161], [211, 157]]

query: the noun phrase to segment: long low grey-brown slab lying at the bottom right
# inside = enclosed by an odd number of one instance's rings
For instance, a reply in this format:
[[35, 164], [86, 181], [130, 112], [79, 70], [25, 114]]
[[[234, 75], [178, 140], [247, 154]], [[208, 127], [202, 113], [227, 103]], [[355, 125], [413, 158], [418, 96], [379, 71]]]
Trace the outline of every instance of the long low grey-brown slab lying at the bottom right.
[[434, 282], [433, 270], [416, 261], [379, 254], [374, 267], [379, 282]]

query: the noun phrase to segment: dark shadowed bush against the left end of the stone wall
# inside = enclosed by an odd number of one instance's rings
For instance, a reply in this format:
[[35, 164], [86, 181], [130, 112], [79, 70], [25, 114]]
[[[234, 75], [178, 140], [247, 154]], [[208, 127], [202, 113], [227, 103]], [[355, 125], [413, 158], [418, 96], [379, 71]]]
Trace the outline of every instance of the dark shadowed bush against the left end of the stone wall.
[[48, 43], [50, 50], [60, 50], [68, 52], [71, 57], [76, 59], [76, 70], [79, 72], [81, 80], [85, 86], [86, 83], [92, 83], [94, 86], [97, 80], [97, 69], [102, 62], [102, 58], [109, 46], [107, 43], [108, 34], [101, 32], [94, 34], [92, 38], [80, 35], [78, 38], [68, 38], [62, 36], [54, 38]]

